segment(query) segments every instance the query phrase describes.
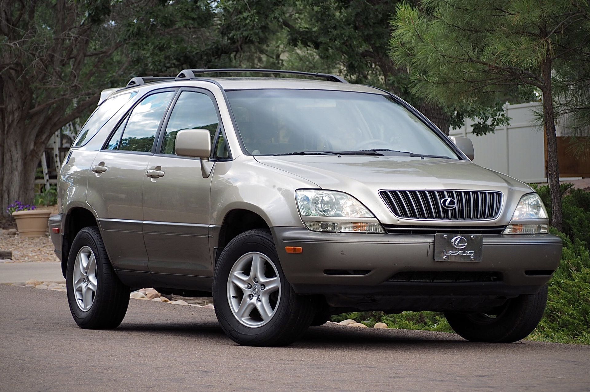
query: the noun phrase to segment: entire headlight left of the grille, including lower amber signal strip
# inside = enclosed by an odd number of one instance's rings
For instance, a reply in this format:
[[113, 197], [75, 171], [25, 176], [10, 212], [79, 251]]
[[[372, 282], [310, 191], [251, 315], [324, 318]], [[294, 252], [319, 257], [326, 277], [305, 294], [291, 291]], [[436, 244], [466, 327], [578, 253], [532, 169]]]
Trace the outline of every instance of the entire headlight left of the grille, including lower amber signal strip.
[[[371, 211], [360, 201], [343, 192], [297, 190], [295, 198], [301, 219], [309, 230], [333, 233], [384, 232]], [[326, 219], [322, 219], [324, 217]]]

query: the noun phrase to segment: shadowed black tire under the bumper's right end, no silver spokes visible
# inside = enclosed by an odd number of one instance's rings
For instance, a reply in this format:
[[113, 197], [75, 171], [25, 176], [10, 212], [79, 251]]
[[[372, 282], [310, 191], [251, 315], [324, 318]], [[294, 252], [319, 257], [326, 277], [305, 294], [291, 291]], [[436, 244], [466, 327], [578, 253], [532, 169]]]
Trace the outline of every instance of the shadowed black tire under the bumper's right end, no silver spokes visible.
[[536, 294], [509, 299], [495, 317], [485, 313], [445, 312], [448, 324], [472, 342], [512, 343], [526, 338], [541, 321], [547, 303], [547, 286]]

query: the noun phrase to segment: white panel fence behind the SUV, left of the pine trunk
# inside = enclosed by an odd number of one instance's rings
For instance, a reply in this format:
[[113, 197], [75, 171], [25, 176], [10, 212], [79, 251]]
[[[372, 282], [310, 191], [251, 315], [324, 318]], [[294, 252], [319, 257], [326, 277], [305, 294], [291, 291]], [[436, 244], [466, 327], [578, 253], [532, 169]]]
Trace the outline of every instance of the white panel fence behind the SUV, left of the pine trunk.
[[[496, 128], [484, 136], [471, 133], [471, 122], [450, 135], [467, 136], [473, 142], [476, 164], [526, 182], [545, 182], [545, 144], [543, 128], [535, 122], [539, 102], [507, 105], [510, 125]], [[558, 124], [558, 132], [559, 132]]]

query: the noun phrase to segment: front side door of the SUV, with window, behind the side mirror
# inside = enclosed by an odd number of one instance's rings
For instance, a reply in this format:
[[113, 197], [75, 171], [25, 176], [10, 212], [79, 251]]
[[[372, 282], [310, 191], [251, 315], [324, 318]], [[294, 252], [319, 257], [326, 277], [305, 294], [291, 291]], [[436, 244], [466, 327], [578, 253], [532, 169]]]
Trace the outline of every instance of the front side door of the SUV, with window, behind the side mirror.
[[149, 270], [158, 274], [212, 276], [209, 253], [211, 178], [203, 178], [198, 158], [175, 154], [181, 129], [219, 127], [212, 96], [205, 90], [183, 89], [160, 131], [156, 154], [143, 179], [143, 238]]

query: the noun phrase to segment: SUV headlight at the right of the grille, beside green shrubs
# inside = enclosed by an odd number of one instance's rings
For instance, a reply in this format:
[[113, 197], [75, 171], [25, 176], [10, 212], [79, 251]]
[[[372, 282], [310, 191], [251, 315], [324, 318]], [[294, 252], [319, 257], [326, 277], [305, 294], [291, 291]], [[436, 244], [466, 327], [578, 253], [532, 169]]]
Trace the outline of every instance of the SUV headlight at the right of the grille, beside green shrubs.
[[504, 234], [544, 234], [548, 233], [549, 225], [546, 223], [517, 223], [515, 220], [547, 219], [547, 210], [543, 201], [536, 193], [529, 193], [520, 198], [516, 210], [512, 215], [512, 221], [504, 230]]

